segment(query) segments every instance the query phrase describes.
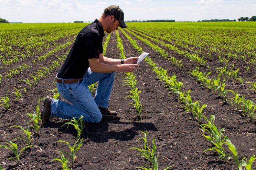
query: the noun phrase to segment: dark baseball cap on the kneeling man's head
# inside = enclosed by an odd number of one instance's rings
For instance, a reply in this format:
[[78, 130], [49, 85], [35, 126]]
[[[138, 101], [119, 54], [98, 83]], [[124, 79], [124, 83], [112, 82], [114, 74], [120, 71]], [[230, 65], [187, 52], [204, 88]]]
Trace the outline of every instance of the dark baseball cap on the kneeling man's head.
[[104, 10], [105, 14], [114, 15], [115, 18], [119, 21], [121, 28], [127, 28], [128, 26], [124, 22], [124, 12], [117, 5], [110, 5]]

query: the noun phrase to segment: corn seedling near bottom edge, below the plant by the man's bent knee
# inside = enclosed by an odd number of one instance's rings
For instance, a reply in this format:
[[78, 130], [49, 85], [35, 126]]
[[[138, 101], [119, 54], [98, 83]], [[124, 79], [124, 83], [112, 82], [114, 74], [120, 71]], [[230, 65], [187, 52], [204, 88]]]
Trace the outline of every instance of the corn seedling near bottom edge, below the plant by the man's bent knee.
[[62, 153], [65, 153], [69, 156], [68, 159], [71, 159], [72, 163], [71, 163], [71, 167], [74, 168], [74, 163], [76, 162], [76, 152], [80, 149], [80, 147], [83, 145], [83, 138], [80, 139], [78, 145], [76, 146], [77, 142], [79, 141], [79, 138], [77, 139], [77, 141], [74, 143], [73, 146], [71, 146], [68, 142], [66, 141], [57, 141], [57, 142], [64, 142], [68, 145], [68, 147], [70, 148], [70, 153], [65, 152], [65, 151], [61, 151]]

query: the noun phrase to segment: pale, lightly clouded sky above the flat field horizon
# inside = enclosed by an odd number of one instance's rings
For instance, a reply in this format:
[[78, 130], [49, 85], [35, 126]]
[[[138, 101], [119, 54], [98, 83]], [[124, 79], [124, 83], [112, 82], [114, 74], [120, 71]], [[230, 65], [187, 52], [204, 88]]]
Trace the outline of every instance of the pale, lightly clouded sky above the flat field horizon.
[[118, 5], [128, 20], [237, 20], [256, 15], [256, 0], [0, 0], [0, 18], [9, 22], [62, 23], [99, 19]]

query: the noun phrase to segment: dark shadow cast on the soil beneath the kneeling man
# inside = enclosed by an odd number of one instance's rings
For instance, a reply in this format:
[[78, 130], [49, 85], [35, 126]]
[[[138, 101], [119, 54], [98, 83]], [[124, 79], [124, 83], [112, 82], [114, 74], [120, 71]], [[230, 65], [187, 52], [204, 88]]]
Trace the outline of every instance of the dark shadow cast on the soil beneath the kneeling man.
[[[65, 122], [52, 122], [45, 124], [43, 127], [56, 128], [57, 131], [73, 134], [76, 137], [77, 133], [72, 125], [61, 127]], [[116, 124], [116, 127], [109, 128], [109, 123]], [[108, 142], [109, 139], [116, 141], [129, 141], [138, 135], [138, 131], [157, 131], [156, 126], [152, 122], [133, 122], [120, 121], [119, 118], [103, 118], [100, 123], [85, 123], [81, 138], [88, 139], [96, 143]]]

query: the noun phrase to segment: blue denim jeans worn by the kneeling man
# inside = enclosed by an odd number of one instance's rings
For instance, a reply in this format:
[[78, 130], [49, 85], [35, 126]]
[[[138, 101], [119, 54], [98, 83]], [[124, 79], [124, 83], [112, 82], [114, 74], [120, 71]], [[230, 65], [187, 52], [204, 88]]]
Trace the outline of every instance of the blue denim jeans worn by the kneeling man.
[[[85, 122], [100, 122], [102, 114], [98, 107], [108, 107], [114, 79], [115, 72], [94, 73], [89, 68], [81, 82], [56, 83], [58, 92], [71, 104], [53, 99], [51, 104], [52, 117], [72, 119], [82, 115]], [[93, 98], [88, 86], [95, 82], [98, 82], [98, 86]]]

